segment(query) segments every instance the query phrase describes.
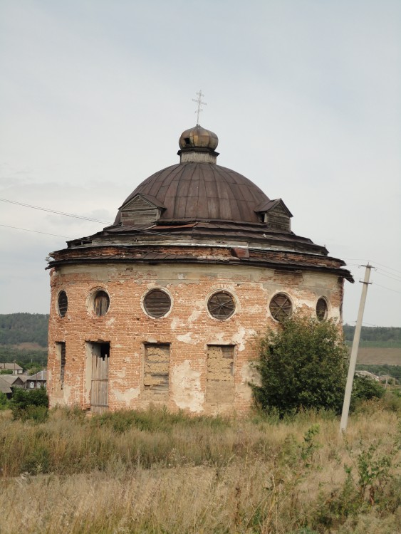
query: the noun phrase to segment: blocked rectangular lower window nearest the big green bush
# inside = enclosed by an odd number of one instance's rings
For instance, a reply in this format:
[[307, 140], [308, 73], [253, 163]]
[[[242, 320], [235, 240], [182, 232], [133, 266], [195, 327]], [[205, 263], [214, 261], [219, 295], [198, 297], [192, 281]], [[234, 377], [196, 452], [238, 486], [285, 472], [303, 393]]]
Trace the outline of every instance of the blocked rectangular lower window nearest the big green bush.
[[234, 401], [234, 345], [208, 345], [206, 402]]

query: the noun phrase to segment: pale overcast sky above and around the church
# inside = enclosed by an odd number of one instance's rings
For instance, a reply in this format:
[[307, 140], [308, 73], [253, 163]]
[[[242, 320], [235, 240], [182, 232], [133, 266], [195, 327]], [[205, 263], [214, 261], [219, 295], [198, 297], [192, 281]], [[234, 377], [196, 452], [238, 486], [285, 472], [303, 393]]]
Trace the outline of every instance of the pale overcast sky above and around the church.
[[[218, 163], [401, 325], [400, 0], [0, 0], [0, 197], [112, 222], [196, 122]], [[0, 201], [0, 313], [48, 313], [48, 253], [104, 225]], [[58, 237], [59, 236], [59, 237]], [[65, 237], [63, 237], [65, 236]]]

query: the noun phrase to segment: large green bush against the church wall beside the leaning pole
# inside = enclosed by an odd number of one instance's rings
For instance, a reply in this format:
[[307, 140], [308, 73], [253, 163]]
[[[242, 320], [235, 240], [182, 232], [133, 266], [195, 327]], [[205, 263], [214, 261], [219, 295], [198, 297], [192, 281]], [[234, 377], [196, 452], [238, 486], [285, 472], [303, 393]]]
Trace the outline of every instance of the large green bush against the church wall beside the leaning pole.
[[261, 385], [256, 404], [280, 417], [300, 409], [333, 410], [343, 405], [348, 349], [333, 321], [294, 316], [261, 340], [256, 364]]

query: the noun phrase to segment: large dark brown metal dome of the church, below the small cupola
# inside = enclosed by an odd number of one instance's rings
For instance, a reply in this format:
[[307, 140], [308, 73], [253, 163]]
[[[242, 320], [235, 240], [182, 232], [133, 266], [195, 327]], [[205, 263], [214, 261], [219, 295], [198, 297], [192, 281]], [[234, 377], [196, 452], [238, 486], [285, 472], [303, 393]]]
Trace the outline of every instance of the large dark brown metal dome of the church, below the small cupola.
[[[160, 220], [258, 223], [254, 210], [261, 202], [269, 201], [242, 174], [217, 164], [199, 162], [179, 163], [155, 172], [127, 197], [123, 206], [137, 194], [162, 206]], [[118, 211], [115, 224], [120, 218]]]

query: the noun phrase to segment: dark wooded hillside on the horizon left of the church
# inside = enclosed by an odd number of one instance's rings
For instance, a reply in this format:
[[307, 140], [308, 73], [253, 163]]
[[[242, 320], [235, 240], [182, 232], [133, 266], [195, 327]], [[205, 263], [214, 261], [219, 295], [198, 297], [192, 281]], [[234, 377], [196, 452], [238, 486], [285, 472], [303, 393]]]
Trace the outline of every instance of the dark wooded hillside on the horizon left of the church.
[[38, 343], [47, 347], [48, 315], [8, 313], [0, 315], [0, 345]]

